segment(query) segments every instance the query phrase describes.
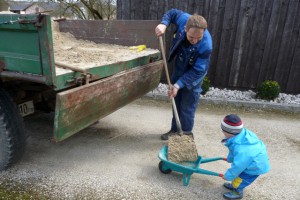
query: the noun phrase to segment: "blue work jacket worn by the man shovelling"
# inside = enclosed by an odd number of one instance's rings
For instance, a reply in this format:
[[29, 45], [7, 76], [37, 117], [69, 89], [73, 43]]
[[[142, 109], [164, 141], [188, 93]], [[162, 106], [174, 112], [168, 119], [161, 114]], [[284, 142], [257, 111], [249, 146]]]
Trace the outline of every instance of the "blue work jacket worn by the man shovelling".
[[177, 83], [180, 88], [186, 87], [201, 92], [201, 84], [207, 74], [212, 53], [212, 39], [208, 30], [205, 30], [203, 38], [197, 44], [183, 48], [182, 43], [186, 38], [184, 27], [190, 16], [183, 11], [172, 9], [164, 14], [161, 24], [176, 25], [169, 55], [169, 61], [177, 55], [171, 82]]

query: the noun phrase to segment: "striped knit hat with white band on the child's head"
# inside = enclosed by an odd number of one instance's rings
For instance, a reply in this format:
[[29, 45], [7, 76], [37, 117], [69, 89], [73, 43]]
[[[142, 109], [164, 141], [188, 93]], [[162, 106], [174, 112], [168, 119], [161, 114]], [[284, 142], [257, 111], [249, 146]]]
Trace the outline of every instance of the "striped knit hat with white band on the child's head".
[[226, 133], [237, 135], [243, 129], [243, 122], [239, 116], [230, 114], [221, 122], [221, 129]]

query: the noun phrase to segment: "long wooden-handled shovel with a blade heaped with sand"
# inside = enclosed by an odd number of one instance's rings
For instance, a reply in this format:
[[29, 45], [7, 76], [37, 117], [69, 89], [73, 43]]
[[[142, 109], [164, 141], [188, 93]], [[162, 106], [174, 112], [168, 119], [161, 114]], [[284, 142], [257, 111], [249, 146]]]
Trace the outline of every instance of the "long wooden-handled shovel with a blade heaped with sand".
[[[163, 44], [162, 36], [159, 37], [160, 48], [162, 52], [162, 57], [164, 61], [166, 77], [169, 84], [169, 88], [172, 87], [169, 72], [167, 59]], [[177, 125], [177, 134], [179, 136], [170, 137], [168, 140], [168, 160], [175, 163], [186, 162], [186, 161], [196, 161], [198, 158], [198, 151], [194, 141], [194, 138], [191, 138], [187, 135], [184, 135], [182, 132], [177, 107], [175, 104], [174, 98], [172, 98], [172, 107]]]

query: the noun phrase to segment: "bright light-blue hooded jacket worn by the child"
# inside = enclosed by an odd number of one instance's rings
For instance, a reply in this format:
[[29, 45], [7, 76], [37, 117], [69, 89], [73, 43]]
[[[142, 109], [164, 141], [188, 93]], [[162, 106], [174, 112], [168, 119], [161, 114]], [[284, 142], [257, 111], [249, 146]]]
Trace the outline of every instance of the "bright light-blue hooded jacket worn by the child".
[[269, 158], [264, 143], [246, 128], [229, 138], [225, 146], [229, 149], [228, 162], [232, 163], [226, 171], [226, 180], [232, 181], [242, 172], [261, 175], [270, 170]]

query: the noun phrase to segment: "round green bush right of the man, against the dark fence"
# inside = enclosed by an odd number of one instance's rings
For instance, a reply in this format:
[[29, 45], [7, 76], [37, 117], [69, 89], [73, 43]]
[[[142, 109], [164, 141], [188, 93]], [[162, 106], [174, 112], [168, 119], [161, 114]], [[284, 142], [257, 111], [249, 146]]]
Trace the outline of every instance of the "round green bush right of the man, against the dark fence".
[[266, 80], [257, 87], [256, 96], [265, 100], [274, 100], [280, 93], [280, 85], [276, 81]]

